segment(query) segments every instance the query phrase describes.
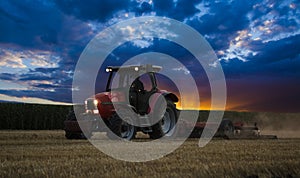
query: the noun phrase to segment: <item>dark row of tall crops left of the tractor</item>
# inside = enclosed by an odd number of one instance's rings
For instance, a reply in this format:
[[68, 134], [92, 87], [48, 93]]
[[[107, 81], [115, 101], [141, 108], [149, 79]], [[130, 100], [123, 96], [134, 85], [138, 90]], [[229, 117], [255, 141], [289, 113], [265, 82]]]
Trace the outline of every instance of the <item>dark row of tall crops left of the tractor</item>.
[[0, 103], [0, 129], [63, 129], [72, 106]]

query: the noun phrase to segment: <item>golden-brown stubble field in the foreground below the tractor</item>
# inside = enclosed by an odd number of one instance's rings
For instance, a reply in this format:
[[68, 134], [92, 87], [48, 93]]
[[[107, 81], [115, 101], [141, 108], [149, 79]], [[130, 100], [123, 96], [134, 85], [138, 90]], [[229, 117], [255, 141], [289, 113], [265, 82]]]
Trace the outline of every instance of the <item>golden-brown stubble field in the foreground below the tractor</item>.
[[154, 161], [115, 160], [64, 132], [0, 131], [0, 177], [300, 177], [300, 139], [188, 139]]

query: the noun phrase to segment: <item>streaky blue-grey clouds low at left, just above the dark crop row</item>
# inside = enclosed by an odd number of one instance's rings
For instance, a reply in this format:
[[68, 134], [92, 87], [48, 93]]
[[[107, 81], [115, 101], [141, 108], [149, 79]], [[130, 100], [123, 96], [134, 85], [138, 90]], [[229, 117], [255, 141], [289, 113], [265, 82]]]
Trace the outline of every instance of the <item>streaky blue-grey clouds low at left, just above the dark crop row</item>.
[[[72, 78], [60, 68], [36, 68], [28, 73], [0, 73], [0, 79], [28, 85], [28, 90], [1, 90], [2, 94], [17, 97], [36, 97], [52, 101], [71, 102]], [[45, 83], [47, 82], [47, 83]], [[51, 91], [51, 92], [49, 92]], [[62, 93], [60, 93], [62, 92]], [[43, 96], [41, 96], [43, 93]], [[28, 94], [28, 95], [26, 95]], [[64, 96], [61, 98], [60, 96]]]

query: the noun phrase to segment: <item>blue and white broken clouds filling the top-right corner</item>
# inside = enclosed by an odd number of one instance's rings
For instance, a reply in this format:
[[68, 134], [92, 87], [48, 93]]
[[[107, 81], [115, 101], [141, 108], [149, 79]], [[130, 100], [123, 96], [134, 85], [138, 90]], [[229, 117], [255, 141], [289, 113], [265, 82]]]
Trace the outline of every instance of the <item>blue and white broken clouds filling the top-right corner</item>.
[[286, 1], [204, 1], [198, 8], [207, 14], [196, 13], [186, 18], [186, 23], [206, 37], [221, 60], [246, 62], [260, 53], [257, 44], [270, 46], [266, 43], [277, 43], [300, 33], [300, 11], [295, 6], [296, 3]]

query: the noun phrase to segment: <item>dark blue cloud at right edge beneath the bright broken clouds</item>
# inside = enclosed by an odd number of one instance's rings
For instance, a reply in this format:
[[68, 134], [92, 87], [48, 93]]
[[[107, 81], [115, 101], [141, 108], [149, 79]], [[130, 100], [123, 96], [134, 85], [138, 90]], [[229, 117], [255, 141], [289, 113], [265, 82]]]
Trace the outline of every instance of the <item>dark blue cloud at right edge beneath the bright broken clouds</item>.
[[[284, 41], [286, 40], [280, 40], [277, 43], [284, 43]], [[246, 80], [249, 76], [257, 78], [267, 76], [270, 78], [285, 77], [299, 80], [299, 53], [294, 53], [294, 50], [288, 48], [275, 46], [275, 48], [265, 46], [266, 49], [262, 48], [258, 51], [258, 55], [249, 58], [248, 62], [243, 62], [237, 58], [232, 58], [230, 61], [221, 61], [226, 78], [245, 78]]]

